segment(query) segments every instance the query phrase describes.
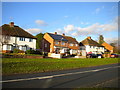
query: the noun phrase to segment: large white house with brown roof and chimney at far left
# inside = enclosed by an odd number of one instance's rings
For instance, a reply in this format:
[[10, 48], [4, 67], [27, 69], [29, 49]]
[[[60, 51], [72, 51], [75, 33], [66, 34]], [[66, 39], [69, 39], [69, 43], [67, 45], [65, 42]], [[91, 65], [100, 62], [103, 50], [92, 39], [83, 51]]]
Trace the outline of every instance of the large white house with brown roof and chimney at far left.
[[19, 26], [14, 25], [14, 22], [4, 24], [0, 28], [0, 47], [2, 52], [10, 52], [15, 48], [23, 51], [36, 49], [36, 38]]

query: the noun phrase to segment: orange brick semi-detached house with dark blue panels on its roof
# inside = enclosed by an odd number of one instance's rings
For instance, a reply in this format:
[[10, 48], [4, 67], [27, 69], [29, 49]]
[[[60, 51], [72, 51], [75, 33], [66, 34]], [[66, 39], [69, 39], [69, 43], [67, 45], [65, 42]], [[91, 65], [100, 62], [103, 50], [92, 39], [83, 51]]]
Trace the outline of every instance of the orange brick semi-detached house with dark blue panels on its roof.
[[53, 33], [45, 33], [44, 39], [50, 43], [50, 53], [66, 53], [70, 51], [70, 54], [77, 54], [79, 49], [78, 42], [75, 38]]

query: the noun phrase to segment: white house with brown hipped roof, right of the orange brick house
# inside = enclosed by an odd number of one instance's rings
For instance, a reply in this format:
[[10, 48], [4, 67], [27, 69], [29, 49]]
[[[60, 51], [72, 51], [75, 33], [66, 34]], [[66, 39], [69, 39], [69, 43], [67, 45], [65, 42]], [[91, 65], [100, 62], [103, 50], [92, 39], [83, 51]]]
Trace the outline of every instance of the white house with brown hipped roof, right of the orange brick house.
[[100, 45], [96, 41], [94, 41], [91, 37], [87, 37], [83, 41], [80, 42], [80, 50], [86, 51], [86, 53], [94, 53], [94, 54], [102, 54], [105, 49], [104, 46]]

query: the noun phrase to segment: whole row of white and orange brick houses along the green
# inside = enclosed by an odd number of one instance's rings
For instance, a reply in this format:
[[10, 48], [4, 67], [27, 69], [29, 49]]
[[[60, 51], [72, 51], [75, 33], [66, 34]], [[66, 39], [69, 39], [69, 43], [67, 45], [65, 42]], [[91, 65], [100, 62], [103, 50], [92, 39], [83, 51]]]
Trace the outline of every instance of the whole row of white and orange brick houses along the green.
[[[26, 32], [19, 26], [14, 25], [14, 22], [4, 24], [0, 29], [0, 49], [2, 52], [10, 52], [14, 48], [26, 51], [29, 49], [36, 50], [37, 38]], [[104, 42], [100, 45], [94, 41], [90, 36], [81, 42], [78, 42], [71, 36], [66, 36], [55, 33], [45, 33], [42, 40], [42, 51], [56, 54], [81, 54], [86, 53], [104, 53], [109, 51], [113, 53], [113, 47]]]

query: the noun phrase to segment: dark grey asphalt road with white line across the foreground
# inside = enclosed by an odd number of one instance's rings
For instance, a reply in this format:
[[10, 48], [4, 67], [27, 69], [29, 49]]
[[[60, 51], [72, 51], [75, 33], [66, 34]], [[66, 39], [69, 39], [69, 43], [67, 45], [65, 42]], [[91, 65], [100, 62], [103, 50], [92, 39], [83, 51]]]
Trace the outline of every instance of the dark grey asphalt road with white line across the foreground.
[[118, 88], [118, 64], [3, 76], [2, 88]]

